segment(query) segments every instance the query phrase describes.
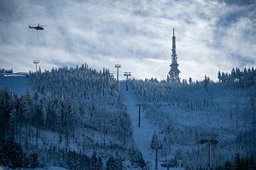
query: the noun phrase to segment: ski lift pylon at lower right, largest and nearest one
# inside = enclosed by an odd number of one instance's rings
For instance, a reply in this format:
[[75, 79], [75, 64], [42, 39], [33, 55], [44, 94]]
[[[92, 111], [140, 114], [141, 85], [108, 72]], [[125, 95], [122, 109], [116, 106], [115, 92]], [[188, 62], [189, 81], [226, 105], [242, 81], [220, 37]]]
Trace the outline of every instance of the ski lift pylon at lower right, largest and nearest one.
[[217, 134], [201, 134], [200, 144], [208, 145], [208, 169], [212, 170], [211, 165], [211, 145], [218, 144]]

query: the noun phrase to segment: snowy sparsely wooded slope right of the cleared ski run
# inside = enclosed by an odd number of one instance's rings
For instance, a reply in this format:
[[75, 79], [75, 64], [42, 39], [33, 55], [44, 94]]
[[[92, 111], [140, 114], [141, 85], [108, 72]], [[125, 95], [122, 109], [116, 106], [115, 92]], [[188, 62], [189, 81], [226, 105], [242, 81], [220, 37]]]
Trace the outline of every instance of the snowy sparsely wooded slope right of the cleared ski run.
[[211, 146], [213, 165], [221, 165], [237, 153], [255, 154], [255, 87], [154, 80], [134, 80], [132, 84], [137, 100], [144, 103], [148, 122], [160, 128], [160, 160], [207, 167], [207, 144], [200, 144], [201, 139], [218, 140]]

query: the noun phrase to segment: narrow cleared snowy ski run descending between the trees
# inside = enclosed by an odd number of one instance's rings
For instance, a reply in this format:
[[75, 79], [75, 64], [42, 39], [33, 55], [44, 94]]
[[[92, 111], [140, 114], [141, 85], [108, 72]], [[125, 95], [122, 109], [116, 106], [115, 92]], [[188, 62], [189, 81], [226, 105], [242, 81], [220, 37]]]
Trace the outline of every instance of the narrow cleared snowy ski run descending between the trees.
[[137, 149], [142, 151], [143, 158], [146, 162], [150, 161], [150, 163], [154, 165], [155, 153], [150, 147], [150, 142], [156, 129], [145, 118], [143, 108], [141, 108], [141, 127], [138, 127], [138, 107], [136, 106], [136, 96], [134, 96], [133, 90], [131, 89], [126, 92], [125, 82], [120, 82], [120, 90], [123, 94], [124, 103], [131, 118], [132, 133], [137, 144]]

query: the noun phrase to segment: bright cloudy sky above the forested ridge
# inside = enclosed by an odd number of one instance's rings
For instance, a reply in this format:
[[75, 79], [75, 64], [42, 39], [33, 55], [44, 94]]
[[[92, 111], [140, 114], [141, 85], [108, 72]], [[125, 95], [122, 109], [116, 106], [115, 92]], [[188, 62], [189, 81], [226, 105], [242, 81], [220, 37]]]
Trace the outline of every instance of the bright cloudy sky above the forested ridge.
[[[87, 63], [165, 79], [176, 30], [180, 77], [256, 66], [256, 5], [246, 0], [0, 0], [0, 68]], [[44, 31], [29, 29], [38, 23]]]

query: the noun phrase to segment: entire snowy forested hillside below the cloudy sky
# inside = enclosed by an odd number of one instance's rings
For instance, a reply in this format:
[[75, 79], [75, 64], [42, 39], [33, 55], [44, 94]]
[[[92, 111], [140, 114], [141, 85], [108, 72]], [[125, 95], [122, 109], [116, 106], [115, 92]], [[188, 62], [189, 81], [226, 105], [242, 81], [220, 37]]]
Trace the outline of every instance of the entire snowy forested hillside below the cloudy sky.
[[255, 71], [219, 75], [219, 82], [133, 79], [128, 91], [108, 70], [88, 65], [0, 77], [0, 162], [25, 169], [153, 169], [155, 162], [158, 169], [199, 169], [210, 158], [221, 169], [241, 156], [254, 166]]

